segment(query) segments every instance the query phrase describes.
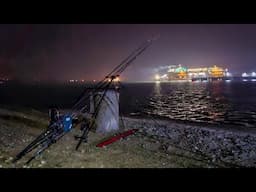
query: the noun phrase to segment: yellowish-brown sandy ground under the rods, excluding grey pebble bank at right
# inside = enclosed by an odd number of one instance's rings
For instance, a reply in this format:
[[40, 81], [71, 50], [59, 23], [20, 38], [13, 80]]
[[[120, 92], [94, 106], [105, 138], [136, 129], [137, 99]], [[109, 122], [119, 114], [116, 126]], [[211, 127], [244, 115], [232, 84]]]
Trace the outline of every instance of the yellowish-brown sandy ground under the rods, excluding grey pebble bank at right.
[[33, 109], [0, 109], [0, 167], [1, 168], [186, 168], [227, 167], [189, 151], [166, 147], [157, 137], [138, 131], [123, 140], [97, 148], [96, 144], [110, 135], [91, 132], [89, 142], [75, 150], [80, 135], [73, 129], [59, 142], [52, 145], [40, 157], [24, 166], [29, 155], [12, 163], [15, 155], [39, 135], [47, 126], [47, 114]]

